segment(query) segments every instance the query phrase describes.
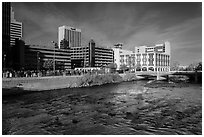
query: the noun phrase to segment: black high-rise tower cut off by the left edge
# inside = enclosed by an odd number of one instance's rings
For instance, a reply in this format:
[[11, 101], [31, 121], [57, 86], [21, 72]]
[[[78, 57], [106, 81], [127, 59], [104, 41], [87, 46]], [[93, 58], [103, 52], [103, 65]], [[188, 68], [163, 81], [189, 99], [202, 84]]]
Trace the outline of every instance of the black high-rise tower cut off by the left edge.
[[2, 2], [2, 59], [3, 68], [8, 66], [10, 60], [10, 16], [11, 3]]

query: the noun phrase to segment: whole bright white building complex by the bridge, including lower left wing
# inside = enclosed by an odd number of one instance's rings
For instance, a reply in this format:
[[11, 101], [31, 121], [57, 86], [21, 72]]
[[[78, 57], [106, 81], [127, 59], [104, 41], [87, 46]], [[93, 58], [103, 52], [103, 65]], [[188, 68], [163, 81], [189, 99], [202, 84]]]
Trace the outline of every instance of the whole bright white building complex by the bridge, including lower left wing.
[[126, 65], [135, 71], [170, 71], [170, 43], [164, 42], [155, 46], [135, 47], [135, 52], [123, 50], [122, 44], [113, 48], [114, 63], [117, 70], [121, 65]]

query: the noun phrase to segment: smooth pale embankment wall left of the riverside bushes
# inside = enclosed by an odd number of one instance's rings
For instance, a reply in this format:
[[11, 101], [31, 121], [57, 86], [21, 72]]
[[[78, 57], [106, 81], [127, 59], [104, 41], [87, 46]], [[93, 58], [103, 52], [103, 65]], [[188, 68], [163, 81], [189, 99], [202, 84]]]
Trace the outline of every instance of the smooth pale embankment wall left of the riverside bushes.
[[68, 88], [81, 76], [24, 77], [2, 79], [3, 89], [21, 89], [29, 91], [53, 90]]

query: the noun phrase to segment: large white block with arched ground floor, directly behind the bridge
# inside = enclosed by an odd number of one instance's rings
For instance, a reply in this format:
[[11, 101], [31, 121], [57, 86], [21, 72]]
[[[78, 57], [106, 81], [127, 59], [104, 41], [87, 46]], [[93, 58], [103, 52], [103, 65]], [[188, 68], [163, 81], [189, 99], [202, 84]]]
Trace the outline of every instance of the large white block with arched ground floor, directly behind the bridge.
[[170, 71], [171, 47], [169, 42], [155, 46], [135, 47], [136, 71]]

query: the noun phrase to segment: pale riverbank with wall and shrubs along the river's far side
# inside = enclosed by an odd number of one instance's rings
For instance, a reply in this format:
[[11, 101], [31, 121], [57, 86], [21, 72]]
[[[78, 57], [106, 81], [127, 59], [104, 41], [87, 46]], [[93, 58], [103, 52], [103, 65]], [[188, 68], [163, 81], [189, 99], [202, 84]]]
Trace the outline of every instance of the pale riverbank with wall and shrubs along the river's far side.
[[65, 88], [91, 87], [140, 79], [135, 74], [101, 74], [77, 76], [53, 76], [8, 78], [2, 80], [3, 95], [29, 91], [45, 91]]

